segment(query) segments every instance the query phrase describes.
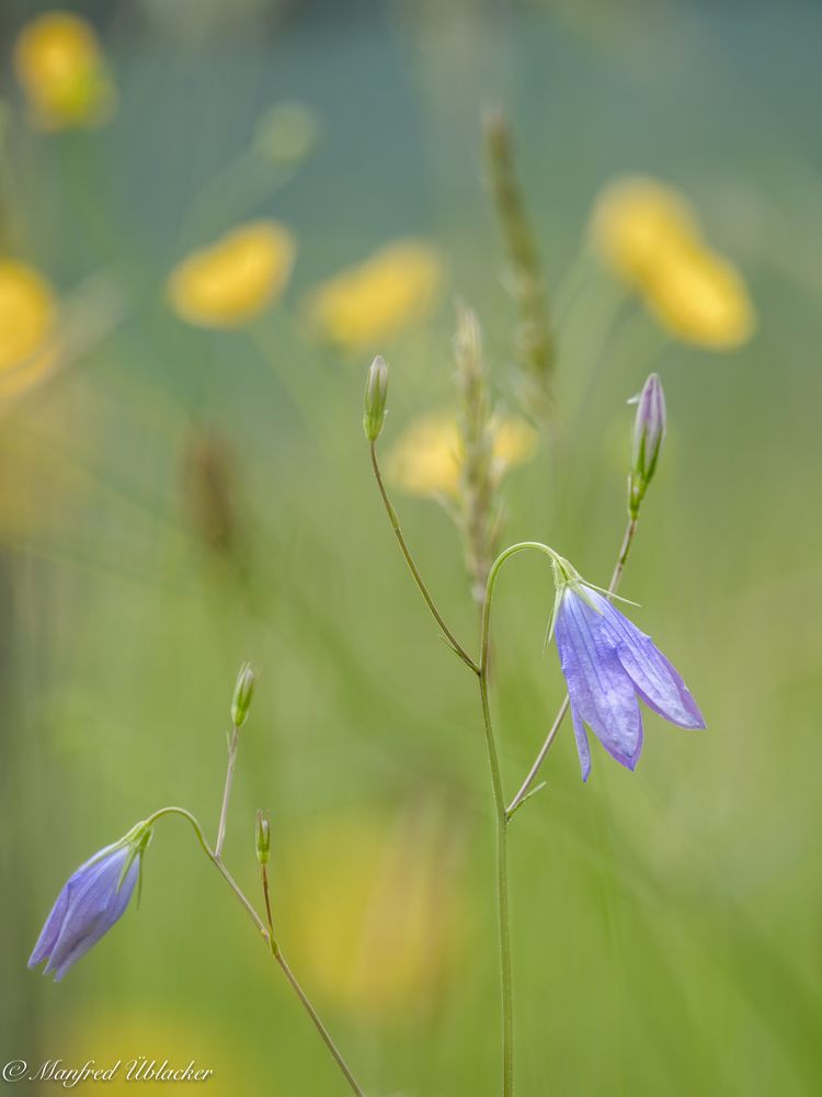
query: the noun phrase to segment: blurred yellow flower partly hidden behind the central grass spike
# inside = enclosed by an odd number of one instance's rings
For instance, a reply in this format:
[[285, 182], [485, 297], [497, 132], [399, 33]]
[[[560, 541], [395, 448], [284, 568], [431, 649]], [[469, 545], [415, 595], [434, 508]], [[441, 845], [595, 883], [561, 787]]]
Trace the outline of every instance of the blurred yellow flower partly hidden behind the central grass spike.
[[[537, 433], [524, 419], [503, 416], [492, 429], [493, 468], [499, 479], [509, 468], [529, 461]], [[461, 442], [457, 420], [443, 411], [415, 419], [391, 450], [386, 470], [409, 495], [457, 497], [461, 473]]]

